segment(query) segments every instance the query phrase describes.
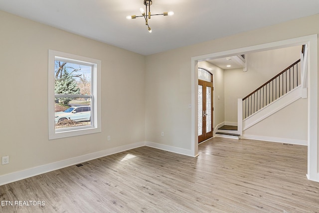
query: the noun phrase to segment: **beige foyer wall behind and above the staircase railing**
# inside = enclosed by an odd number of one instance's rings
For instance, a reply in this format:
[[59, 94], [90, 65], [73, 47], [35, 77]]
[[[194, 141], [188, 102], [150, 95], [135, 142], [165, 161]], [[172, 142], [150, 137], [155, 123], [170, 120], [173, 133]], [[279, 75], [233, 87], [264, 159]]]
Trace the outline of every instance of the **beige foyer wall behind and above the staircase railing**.
[[225, 121], [237, 123], [237, 99], [244, 98], [300, 59], [300, 51], [301, 46], [293, 46], [249, 53], [246, 54], [247, 72], [225, 70]]

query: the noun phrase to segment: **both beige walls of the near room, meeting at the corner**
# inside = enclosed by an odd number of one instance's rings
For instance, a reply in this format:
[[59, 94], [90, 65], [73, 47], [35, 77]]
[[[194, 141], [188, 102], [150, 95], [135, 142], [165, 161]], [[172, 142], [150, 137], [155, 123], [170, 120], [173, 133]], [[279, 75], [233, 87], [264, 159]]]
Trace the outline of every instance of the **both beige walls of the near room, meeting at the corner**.
[[[317, 34], [318, 22], [309, 16], [145, 57], [0, 11], [0, 156], [10, 156], [0, 175], [140, 141], [189, 150], [191, 57]], [[48, 49], [102, 60], [101, 133], [48, 140]]]

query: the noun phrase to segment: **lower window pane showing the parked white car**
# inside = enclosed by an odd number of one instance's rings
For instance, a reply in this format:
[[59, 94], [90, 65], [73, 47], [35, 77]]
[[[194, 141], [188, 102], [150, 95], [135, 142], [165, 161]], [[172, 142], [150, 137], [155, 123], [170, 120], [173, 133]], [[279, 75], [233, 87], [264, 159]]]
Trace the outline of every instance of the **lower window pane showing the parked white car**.
[[55, 129], [91, 126], [91, 98], [55, 98]]

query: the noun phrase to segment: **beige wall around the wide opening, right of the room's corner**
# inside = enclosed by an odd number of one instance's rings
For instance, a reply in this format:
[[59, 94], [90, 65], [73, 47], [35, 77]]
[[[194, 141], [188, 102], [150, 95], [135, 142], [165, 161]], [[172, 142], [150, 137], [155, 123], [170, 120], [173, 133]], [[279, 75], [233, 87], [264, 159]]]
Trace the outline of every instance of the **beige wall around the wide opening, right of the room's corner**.
[[147, 56], [146, 141], [190, 148], [191, 57], [317, 34], [318, 22], [314, 15]]

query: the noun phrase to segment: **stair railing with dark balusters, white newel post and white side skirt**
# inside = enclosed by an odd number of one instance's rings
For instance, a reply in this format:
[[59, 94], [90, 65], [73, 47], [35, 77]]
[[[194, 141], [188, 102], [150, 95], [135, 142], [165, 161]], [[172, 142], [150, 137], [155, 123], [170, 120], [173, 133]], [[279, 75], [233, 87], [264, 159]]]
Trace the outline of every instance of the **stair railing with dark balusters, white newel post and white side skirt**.
[[[303, 50], [304, 50], [303, 46]], [[244, 130], [257, 124], [302, 97], [307, 97], [307, 69], [304, 52], [282, 72], [261, 85], [243, 99], [238, 99], [238, 129]], [[216, 133], [217, 134], [217, 133]]]

